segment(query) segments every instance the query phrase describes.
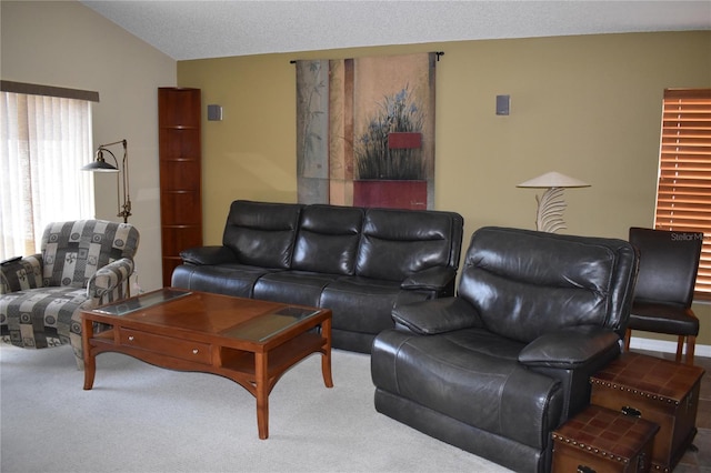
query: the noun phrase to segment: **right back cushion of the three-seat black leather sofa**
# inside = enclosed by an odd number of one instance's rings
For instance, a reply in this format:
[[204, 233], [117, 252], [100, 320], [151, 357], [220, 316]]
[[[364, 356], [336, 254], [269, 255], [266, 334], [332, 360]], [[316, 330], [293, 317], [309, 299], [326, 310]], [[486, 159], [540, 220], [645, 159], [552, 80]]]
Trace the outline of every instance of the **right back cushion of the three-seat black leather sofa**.
[[449, 212], [368, 209], [356, 273], [402, 281], [433, 266], [457, 268], [450, 264], [454, 219]]

